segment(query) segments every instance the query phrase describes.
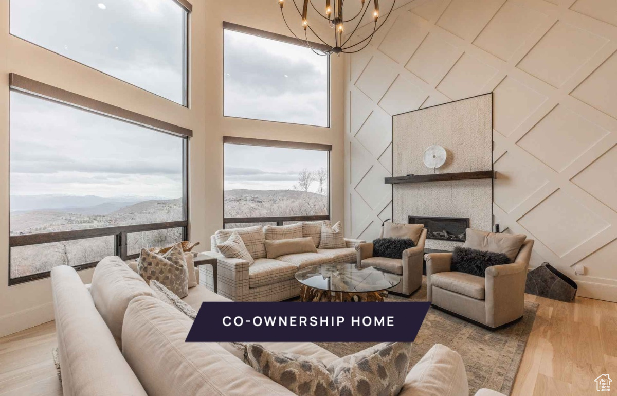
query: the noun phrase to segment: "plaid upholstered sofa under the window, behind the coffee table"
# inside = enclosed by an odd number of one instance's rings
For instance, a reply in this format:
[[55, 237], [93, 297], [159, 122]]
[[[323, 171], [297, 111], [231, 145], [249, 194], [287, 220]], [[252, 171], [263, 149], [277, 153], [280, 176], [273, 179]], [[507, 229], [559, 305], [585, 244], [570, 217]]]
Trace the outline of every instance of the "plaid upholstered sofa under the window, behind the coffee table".
[[[325, 220], [329, 223], [329, 220]], [[210, 237], [213, 255], [218, 260], [218, 294], [234, 301], [283, 301], [300, 294], [295, 274], [301, 268], [328, 263], [355, 263], [360, 239], [345, 239], [346, 247], [319, 249], [321, 225], [324, 221], [303, 221], [287, 226], [253, 226], [220, 229]], [[217, 244], [236, 231], [255, 263], [220, 254]], [[317, 253], [288, 254], [267, 258], [265, 241], [312, 237]]]

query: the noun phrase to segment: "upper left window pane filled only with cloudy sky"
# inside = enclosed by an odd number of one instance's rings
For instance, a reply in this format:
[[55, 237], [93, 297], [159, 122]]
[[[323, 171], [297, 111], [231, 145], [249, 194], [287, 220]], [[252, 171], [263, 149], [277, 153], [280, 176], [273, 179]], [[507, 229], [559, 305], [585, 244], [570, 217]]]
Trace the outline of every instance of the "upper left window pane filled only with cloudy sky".
[[186, 104], [188, 9], [174, 0], [10, 0], [10, 33]]

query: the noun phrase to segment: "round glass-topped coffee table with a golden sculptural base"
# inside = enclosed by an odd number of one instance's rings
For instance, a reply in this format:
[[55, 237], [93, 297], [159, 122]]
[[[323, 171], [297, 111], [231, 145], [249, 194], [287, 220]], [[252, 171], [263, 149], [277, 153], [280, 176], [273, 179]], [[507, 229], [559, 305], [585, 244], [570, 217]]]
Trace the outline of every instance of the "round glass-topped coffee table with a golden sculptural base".
[[302, 301], [383, 301], [400, 276], [357, 264], [314, 265], [297, 271]]

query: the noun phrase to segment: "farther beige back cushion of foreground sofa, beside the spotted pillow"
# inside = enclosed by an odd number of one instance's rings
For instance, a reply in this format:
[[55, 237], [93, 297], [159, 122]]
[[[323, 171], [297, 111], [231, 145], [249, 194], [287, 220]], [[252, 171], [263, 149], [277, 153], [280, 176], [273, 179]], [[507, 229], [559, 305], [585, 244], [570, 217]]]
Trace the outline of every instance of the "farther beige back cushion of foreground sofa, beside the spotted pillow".
[[120, 257], [106, 257], [94, 268], [90, 295], [119, 347], [128, 303], [139, 295], [152, 297], [154, 292]]

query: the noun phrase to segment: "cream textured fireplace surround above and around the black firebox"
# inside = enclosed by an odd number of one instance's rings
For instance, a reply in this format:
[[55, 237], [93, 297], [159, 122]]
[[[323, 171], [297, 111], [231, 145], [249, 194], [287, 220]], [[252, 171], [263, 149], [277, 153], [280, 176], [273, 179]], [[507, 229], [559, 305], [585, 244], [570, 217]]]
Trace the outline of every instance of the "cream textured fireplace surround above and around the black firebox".
[[[447, 160], [437, 170], [423, 163], [426, 147], [439, 144]], [[492, 94], [392, 117], [392, 176], [492, 170]], [[492, 231], [492, 179], [392, 184], [392, 217], [469, 218]], [[451, 250], [460, 241], [427, 239], [429, 249]]]

